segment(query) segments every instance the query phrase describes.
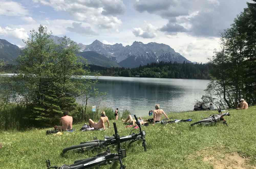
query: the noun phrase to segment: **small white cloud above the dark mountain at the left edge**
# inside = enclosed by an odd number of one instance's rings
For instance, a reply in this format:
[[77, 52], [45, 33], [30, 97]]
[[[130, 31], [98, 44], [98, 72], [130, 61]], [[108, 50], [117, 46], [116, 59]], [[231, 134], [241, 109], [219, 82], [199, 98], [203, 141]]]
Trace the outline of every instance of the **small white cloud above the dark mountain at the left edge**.
[[18, 39], [27, 39], [29, 37], [24, 28], [10, 28], [8, 26], [5, 28], [0, 26], [0, 35], [10, 36]]

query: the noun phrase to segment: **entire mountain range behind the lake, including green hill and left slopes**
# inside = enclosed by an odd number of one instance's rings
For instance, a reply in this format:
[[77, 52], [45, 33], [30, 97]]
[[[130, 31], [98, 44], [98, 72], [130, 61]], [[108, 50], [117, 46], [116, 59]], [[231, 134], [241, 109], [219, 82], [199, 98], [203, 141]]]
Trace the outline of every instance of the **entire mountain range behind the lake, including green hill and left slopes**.
[[[50, 39], [56, 44], [60, 44], [62, 37], [51, 35]], [[75, 42], [75, 44], [77, 43]], [[123, 46], [118, 43], [114, 45], [103, 44], [99, 40], [95, 40], [90, 45], [82, 43], [77, 45], [79, 46], [77, 55], [86, 58], [89, 64], [105, 67], [138, 67], [160, 61], [178, 63], [185, 61], [191, 63], [181, 54], [175, 52], [170, 46], [155, 42], [143, 44], [142, 42], [134, 41], [131, 46]], [[0, 58], [5, 60], [16, 59], [20, 51], [18, 46], [0, 39]]]

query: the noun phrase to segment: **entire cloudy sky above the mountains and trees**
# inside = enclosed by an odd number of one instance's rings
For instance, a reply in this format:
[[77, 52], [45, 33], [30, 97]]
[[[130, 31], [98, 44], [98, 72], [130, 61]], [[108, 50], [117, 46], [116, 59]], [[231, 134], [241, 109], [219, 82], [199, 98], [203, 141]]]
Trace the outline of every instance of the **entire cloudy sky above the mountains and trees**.
[[0, 0], [0, 38], [19, 47], [40, 24], [77, 43], [164, 43], [194, 62], [251, 0]]

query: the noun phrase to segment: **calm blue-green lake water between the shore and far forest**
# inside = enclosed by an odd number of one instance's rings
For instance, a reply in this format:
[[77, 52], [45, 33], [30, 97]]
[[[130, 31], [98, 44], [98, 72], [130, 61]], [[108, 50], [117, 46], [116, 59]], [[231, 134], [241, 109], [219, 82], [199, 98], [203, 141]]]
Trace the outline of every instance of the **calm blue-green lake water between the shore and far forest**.
[[[93, 76], [91, 76], [93, 78]], [[107, 92], [101, 105], [113, 109], [129, 109], [132, 114], [145, 116], [160, 104], [165, 112], [193, 110], [195, 99], [205, 94], [209, 80], [164, 79], [99, 76], [99, 91]], [[81, 99], [77, 100], [81, 102]], [[89, 103], [97, 105], [90, 98]]]

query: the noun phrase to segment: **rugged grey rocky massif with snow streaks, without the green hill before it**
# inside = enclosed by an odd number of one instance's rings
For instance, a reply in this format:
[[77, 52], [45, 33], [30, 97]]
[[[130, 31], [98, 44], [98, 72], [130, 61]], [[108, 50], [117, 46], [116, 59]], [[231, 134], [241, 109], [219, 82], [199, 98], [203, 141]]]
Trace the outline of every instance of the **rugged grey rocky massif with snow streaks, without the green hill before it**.
[[168, 45], [151, 42], [143, 44], [134, 41], [133, 44], [123, 46], [122, 44], [106, 45], [95, 40], [92, 44], [87, 45], [83, 51], [94, 51], [117, 62], [122, 67], [138, 67], [151, 62], [188, 62], [185, 57], [174, 51]]

